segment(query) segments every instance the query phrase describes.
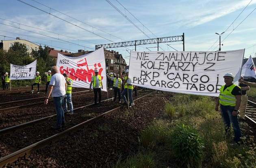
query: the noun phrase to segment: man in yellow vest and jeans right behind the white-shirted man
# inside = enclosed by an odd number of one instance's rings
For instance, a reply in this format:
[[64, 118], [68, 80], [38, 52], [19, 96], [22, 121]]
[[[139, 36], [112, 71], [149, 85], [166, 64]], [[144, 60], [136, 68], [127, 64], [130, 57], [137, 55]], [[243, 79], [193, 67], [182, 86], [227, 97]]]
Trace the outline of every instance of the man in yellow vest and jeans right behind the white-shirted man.
[[63, 76], [65, 77], [66, 83], [67, 83], [67, 90], [66, 90], [66, 95], [64, 97], [63, 100], [63, 104], [64, 104], [64, 112], [67, 112], [67, 102], [68, 102], [68, 106], [69, 106], [69, 115], [73, 115], [74, 111], [73, 111], [73, 104], [72, 104], [72, 84], [73, 84], [73, 80], [67, 77], [67, 74], [64, 73]]

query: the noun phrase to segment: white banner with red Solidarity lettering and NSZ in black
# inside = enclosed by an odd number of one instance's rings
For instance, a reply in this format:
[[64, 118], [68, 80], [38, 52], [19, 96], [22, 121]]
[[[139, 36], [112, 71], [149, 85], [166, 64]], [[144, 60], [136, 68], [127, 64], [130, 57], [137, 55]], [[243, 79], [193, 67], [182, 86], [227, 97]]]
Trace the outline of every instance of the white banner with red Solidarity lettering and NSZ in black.
[[104, 48], [93, 51], [92, 53], [79, 57], [67, 57], [58, 53], [57, 68], [61, 74], [66, 73], [73, 79], [72, 87], [89, 88], [91, 77], [95, 74], [94, 70], [99, 70], [102, 78], [103, 89], [106, 90], [106, 63]]

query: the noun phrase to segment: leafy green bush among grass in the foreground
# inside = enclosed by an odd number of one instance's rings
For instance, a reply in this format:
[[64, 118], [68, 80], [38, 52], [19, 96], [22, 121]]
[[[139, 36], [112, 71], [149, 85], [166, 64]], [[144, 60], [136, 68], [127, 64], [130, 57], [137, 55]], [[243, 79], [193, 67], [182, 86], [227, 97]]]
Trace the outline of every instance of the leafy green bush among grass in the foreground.
[[170, 145], [181, 166], [200, 167], [204, 143], [195, 130], [184, 124], [177, 126], [171, 136]]

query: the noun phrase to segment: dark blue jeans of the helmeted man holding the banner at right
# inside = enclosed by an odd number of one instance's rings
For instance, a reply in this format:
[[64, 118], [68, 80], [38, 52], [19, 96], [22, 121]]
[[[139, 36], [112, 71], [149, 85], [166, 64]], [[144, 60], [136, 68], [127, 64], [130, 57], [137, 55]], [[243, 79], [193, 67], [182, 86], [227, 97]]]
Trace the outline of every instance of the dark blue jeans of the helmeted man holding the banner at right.
[[221, 116], [225, 125], [225, 132], [228, 134], [230, 132], [230, 123], [232, 123], [232, 127], [234, 130], [234, 141], [240, 142], [241, 139], [241, 130], [238, 123], [238, 116], [232, 116], [232, 112], [234, 111], [234, 106], [223, 106], [220, 105]]

